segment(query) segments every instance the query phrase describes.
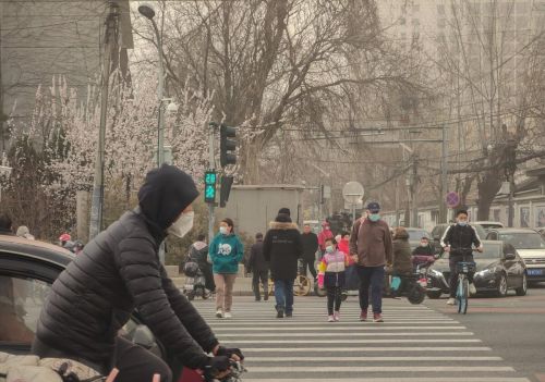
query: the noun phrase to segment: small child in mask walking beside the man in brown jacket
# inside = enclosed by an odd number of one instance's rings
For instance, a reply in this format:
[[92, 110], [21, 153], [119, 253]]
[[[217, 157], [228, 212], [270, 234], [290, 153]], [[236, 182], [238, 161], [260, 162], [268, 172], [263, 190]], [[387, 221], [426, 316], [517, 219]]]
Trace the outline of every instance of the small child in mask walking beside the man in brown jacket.
[[337, 242], [334, 238], [327, 238], [325, 247], [326, 251], [318, 266], [318, 283], [327, 289], [327, 321], [334, 322], [340, 320], [341, 292], [344, 287], [344, 270], [349, 263], [349, 256], [337, 249]]

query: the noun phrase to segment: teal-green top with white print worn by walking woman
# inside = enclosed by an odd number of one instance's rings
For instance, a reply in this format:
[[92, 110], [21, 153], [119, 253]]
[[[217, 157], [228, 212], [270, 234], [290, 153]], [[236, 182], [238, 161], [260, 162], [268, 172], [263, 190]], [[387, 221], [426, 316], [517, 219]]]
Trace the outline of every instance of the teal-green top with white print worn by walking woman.
[[244, 257], [244, 245], [235, 234], [218, 234], [208, 250], [214, 273], [239, 273], [239, 262]]

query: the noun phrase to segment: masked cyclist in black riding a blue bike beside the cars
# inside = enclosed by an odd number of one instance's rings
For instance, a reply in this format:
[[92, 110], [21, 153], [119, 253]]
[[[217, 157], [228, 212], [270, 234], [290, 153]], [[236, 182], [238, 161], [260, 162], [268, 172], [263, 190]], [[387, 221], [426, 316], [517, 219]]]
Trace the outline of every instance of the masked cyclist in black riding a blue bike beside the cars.
[[[483, 245], [476, 230], [468, 224], [468, 211], [459, 210], [456, 214], [456, 224], [450, 225], [441, 237], [440, 245], [446, 252], [450, 252], [449, 267], [450, 267], [450, 298], [448, 305], [455, 305], [456, 288], [458, 282], [458, 273], [456, 264], [460, 261], [473, 261], [473, 255], [469, 251], [462, 251], [460, 248], [471, 248], [475, 246], [480, 252], [483, 251]], [[473, 284], [474, 272], [468, 273], [470, 282], [470, 294], [476, 293], [475, 285]]]

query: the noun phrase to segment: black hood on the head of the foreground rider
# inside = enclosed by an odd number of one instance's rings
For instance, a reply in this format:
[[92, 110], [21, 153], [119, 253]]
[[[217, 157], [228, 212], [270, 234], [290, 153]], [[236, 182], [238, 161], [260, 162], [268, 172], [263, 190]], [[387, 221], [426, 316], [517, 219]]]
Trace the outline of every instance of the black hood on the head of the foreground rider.
[[197, 196], [197, 187], [189, 174], [162, 164], [147, 173], [138, 190], [138, 202], [147, 222], [165, 232]]

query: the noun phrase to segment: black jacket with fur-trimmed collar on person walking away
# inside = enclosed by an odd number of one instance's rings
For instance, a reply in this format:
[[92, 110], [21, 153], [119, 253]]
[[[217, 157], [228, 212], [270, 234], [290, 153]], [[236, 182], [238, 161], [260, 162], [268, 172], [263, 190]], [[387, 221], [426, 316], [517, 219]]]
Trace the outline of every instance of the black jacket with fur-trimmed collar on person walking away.
[[272, 280], [295, 280], [298, 259], [303, 256], [303, 243], [296, 224], [287, 215], [270, 223], [263, 241], [263, 255], [269, 262]]

